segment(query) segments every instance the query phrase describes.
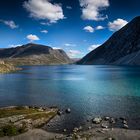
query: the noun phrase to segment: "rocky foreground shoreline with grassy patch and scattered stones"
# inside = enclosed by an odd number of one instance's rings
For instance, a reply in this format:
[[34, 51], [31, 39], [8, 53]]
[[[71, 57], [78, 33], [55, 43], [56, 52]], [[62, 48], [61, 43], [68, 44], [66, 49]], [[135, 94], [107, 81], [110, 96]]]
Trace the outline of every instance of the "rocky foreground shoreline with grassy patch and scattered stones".
[[55, 116], [71, 113], [58, 108], [46, 107], [6, 107], [0, 109], [0, 140], [139, 140], [140, 129], [129, 129], [129, 121], [125, 117], [94, 117], [87, 120], [87, 129], [75, 127], [68, 133], [48, 132], [42, 128]]

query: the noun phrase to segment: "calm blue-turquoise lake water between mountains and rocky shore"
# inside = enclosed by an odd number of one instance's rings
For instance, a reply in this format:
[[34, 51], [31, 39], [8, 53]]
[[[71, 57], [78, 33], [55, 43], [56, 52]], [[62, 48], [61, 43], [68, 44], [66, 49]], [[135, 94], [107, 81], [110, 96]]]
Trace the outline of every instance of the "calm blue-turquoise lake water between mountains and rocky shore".
[[0, 106], [71, 108], [53, 128], [82, 125], [94, 116], [140, 117], [140, 67], [24, 66], [0, 75]]

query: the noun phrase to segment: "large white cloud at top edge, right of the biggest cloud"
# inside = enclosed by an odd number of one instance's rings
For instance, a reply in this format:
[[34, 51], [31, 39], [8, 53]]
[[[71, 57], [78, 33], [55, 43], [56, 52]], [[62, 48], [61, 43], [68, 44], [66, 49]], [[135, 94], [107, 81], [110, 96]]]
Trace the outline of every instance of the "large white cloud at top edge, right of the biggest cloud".
[[82, 18], [100, 21], [107, 18], [100, 11], [109, 6], [109, 0], [79, 0], [82, 7]]

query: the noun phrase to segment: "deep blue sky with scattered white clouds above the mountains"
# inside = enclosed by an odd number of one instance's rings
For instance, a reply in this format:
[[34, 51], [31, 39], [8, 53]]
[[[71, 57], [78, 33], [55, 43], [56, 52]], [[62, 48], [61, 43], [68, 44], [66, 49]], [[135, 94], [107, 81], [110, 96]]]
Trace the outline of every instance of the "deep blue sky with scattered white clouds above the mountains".
[[139, 0], [1, 0], [0, 48], [29, 42], [80, 58], [134, 17]]

